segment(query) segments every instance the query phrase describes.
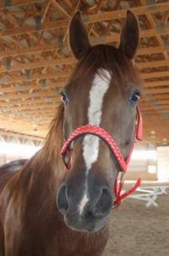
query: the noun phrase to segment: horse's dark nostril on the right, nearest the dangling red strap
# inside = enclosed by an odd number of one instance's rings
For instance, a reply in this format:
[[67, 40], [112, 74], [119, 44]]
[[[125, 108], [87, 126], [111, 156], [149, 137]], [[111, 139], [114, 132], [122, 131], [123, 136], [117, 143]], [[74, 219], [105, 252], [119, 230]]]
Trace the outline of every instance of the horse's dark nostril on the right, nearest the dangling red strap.
[[102, 189], [102, 194], [99, 198], [95, 206], [95, 214], [96, 215], [105, 215], [110, 212], [113, 205], [112, 195], [110, 193], [110, 189], [104, 188]]

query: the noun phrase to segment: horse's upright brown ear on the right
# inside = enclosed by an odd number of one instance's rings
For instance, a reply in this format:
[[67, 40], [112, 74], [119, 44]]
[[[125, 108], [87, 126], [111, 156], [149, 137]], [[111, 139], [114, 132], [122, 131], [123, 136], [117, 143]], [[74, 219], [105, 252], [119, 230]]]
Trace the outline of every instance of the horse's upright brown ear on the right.
[[136, 16], [127, 10], [127, 19], [121, 31], [121, 44], [119, 49], [129, 59], [136, 54], [139, 44], [139, 25]]

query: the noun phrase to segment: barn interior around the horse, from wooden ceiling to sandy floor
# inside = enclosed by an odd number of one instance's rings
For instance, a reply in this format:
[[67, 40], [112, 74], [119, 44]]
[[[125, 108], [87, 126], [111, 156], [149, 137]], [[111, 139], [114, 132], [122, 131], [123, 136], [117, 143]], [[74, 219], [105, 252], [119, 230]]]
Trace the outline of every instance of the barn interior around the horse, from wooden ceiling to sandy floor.
[[110, 220], [104, 256], [166, 256], [168, 197], [156, 201], [155, 193], [165, 194], [169, 182], [168, 0], [0, 0], [0, 164], [30, 158], [42, 147], [76, 66], [68, 44], [72, 15], [81, 11], [91, 44], [118, 47], [127, 9], [140, 26], [135, 65], [143, 81], [144, 141], [136, 145], [126, 178], [151, 184], [154, 194], [145, 201], [159, 207], [124, 202]]

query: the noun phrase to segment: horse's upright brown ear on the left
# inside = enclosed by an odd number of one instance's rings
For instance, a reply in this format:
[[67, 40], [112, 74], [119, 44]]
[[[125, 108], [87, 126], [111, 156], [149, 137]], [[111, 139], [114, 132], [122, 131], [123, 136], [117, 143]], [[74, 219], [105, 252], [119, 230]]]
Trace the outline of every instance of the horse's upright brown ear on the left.
[[76, 12], [70, 20], [69, 44], [70, 49], [77, 60], [79, 60], [87, 52], [87, 49], [90, 48], [87, 31], [82, 24], [82, 18], [79, 11]]

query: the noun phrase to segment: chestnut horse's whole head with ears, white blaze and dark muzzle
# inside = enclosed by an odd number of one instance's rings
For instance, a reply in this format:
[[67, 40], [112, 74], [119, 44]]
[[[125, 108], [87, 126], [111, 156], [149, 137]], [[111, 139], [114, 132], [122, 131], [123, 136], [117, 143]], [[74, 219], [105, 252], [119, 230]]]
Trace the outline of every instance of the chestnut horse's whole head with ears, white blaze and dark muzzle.
[[61, 93], [65, 141], [79, 127], [99, 128], [96, 134], [90, 129], [80, 132], [66, 146], [71, 166], [59, 187], [57, 206], [71, 230], [97, 232], [107, 225], [115, 201], [115, 178], [121, 172], [109, 141], [99, 136], [100, 128], [113, 138], [124, 160], [135, 137], [140, 80], [133, 57], [139, 41], [138, 20], [127, 11], [118, 49], [92, 46], [77, 12], [70, 20], [69, 41], [78, 62]]

